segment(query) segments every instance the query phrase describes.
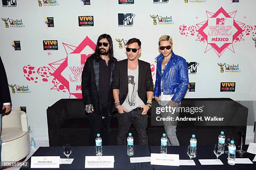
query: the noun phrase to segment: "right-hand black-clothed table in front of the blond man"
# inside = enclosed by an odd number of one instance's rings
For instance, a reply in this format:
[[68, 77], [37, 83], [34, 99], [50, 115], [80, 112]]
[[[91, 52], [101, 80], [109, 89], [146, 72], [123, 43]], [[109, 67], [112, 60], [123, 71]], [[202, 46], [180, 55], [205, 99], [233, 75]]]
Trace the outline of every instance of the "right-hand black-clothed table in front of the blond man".
[[[247, 150], [248, 145], [243, 150]], [[154, 170], [256, 170], [256, 162], [253, 164], [228, 164], [228, 154], [220, 155], [219, 159], [223, 162], [223, 165], [201, 165], [199, 159], [216, 159], [213, 152], [214, 146], [197, 146], [197, 157], [193, 158], [195, 166], [180, 165], [180, 166], [161, 166], [154, 165]], [[226, 149], [226, 148], [225, 148]], [[150, 146], [151, 153], [160, 153], [160, 146]], [[187, 146], [168, 146], [168, 154], [179, 154], [180, 160], [188, 160]], [[251, 161], [255, 157], [254, 154], [246, 153], [243, 158], [249, 158]], [[240, 158], [236, 152], [236, 158]]]

